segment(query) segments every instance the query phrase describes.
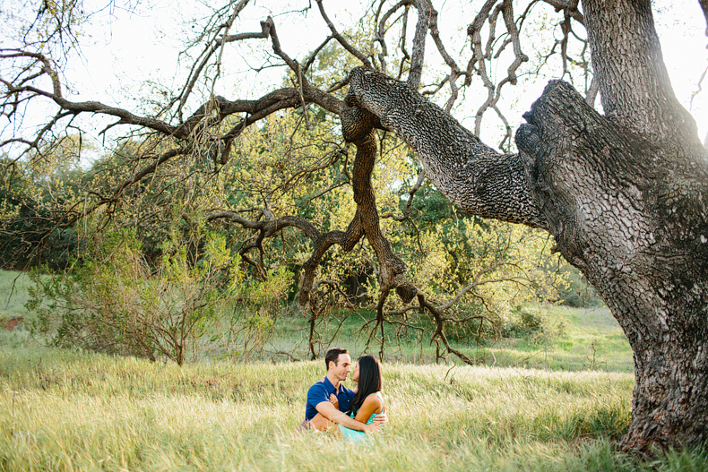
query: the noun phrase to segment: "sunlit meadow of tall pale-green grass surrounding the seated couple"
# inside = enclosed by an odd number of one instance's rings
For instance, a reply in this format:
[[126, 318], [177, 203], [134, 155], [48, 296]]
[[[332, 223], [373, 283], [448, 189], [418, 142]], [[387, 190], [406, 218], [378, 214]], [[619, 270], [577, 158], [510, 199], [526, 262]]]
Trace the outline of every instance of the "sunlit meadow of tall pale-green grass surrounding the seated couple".
[[412, 362], [401, 351], [404, 360], [384, 363], [390, 423], [358, 444], [296, 432], [322, 360], [180, 368], [2, 332], [0, 470], [708, 470], [704, 451], [616, 450], [634, 379], [603, 313], [554, 308], [562, 335], [506, 340], [494, 366]]

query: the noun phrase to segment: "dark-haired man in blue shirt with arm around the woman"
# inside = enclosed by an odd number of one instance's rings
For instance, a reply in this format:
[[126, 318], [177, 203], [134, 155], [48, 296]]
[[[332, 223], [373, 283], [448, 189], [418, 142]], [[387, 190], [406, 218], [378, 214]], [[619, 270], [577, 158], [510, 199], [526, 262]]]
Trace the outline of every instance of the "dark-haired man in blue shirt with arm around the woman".
[[307, 390], [305, 421], [300, 428], [324, 431], [337, 424], [365, 433], [381, 431], [381, 426], [388, 422], [385, 414], [376, 415], [373, 423], [365, 425], [344, 413], [356, 394], [341, 384], [351, 372], [349, 351], [342, 348], [328, 350], [324, 364], [327, 365], [327, 375]]

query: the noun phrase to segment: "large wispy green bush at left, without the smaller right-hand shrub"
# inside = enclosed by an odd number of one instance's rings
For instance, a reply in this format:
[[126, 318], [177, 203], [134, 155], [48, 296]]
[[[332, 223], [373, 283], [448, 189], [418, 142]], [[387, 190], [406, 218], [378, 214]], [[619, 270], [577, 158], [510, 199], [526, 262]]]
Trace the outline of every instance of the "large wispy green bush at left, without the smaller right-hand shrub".
[[222, 237], [208, 236], [194, 254], [177, 242], [164, 243], [151, 267], [134, 230], [97, 235], [71, 271], [42, 277], [35, 270], [31, 330], [54, 346], [164, 356], [182, 365], [235, 292]]

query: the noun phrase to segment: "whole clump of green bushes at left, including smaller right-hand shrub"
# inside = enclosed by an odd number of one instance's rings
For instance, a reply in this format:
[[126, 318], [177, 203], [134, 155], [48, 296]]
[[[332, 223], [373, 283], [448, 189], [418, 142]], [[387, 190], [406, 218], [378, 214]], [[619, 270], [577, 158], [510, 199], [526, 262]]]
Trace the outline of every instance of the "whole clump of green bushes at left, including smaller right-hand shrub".
[[178, 365], [198, 356], [213, 331], [227, 333], [211, 340], [231, 356], [263, 348], [292, 274], [281, 268], [249, 282], [232, 267], [224, 236], [210, 233], [190, 244], [175, 235], [154, 265], [131, 229], [96, 233], [70, 271], [47, 277], [46, 268], [34, 270], [26, 306], [37, 316], [30, 329], [57, 347]]

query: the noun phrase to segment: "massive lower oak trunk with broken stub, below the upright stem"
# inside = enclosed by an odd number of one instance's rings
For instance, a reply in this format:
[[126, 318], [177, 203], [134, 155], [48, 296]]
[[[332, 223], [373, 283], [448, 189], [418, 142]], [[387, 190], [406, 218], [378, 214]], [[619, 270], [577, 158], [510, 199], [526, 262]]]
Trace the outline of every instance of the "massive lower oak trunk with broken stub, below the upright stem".
[[563, 82], [516, 142], [558, 249], [598, 289], [635, 354], [623, 448], [708, 439], [708, 159], [657, 148]]

